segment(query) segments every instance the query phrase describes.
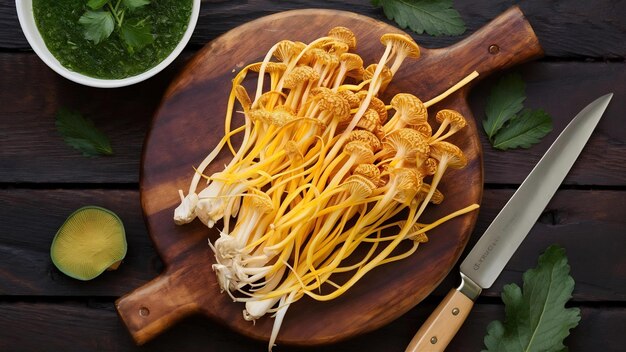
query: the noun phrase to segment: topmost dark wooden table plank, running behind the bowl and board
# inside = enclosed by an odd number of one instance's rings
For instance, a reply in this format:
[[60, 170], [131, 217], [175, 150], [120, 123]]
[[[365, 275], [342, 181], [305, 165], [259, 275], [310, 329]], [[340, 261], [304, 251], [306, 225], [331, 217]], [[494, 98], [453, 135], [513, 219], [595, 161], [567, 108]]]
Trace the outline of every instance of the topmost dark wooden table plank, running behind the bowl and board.
[[[455, 1], [467, 31], [460, 37], [431, 37], [413, 34], [424, 47], [444, 47], [455, 43], [482, 27], [513, 4], [513, 0]], [[548, 57], [623, 59], [626, 57], [626, 1], [543, 1], [530, 0], [519, 3], [533, 25]], [[218, 35], [247, 21], [279, 11], [310, 7], [333, 8], [352, 11], [393, 23], [382, 9], [375, 9], [369, 1], [325, 1], [312, 3], [305, 0], [250, 2], [203, 0], [200, 18], [191, 39], [191, 46], [199, 47]], [[15, 3], [0, 0], [0, 48], [29, 49], [21, 33]]]

